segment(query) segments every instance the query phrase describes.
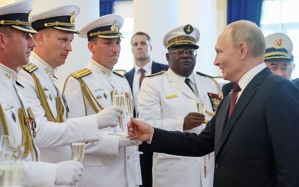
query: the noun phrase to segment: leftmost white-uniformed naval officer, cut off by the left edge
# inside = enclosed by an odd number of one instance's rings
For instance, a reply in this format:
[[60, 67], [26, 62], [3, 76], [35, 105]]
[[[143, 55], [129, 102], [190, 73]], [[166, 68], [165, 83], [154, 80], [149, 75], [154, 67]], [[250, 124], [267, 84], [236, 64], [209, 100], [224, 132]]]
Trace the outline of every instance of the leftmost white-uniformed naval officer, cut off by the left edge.
[[[28, 103], [24, 87], [16, 81], [17, 69], [29, 62], [30, 51], [36, 46], [29, 35], [36, 34], [36, 30], [31, 27], [32, 4], [33, 0], [24, 0], [0, 7], [0, 136], [13, 136], [14, 143], [21, 145], [20, 154], [6, 156], [6, 160], [23, 160], [20, 164], [22, 167], [5, 162], [0, 164], [0, 186], [71, 186], [82, 174], [82, 164], [74, 161], [57, 164], [36, 162], [40, 161], [40, 152], [35, 139], [34, 113], [30, 110], [34, 106]], [[4, 146], [4, 142], [2, 143]], [[2, 148], [4, 154], [9, 151]], [[21, 183], [17, 182], [17, 178], [12, 181], [4, 180], [13, 177], [7, 170], [19, 172], [17, 169], [22, 168]]]

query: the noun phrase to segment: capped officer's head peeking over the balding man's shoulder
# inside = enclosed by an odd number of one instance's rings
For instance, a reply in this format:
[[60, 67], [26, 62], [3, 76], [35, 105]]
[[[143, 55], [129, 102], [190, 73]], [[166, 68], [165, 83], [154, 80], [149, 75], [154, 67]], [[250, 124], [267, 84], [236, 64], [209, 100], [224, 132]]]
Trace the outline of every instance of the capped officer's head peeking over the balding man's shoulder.
[[265, 63], [272, 73], [288, 77], [288, 63], [292, 61], [293, 43], [285, 34], [274, 33], [265, 37]]

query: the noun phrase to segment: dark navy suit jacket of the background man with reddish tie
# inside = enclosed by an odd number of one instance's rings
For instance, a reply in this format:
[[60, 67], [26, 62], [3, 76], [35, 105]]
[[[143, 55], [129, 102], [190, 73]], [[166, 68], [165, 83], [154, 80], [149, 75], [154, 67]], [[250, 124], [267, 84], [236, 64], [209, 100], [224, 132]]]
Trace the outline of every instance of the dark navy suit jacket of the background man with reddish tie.
[[[152, 61], [152, 74], [161, 72], [162, 70], [167, 71], [168, 65], [159, 64]], [[135, 68], [131, 69], [125, 74], [126, 79], [129, 82], [131, 90], [133, 92], [133, 79], [134, 79]], [[134, 98], [137, 99], [137, 98]], [[134, 117], [136, 115], [134, 109]], [[139, 150], [143, 152], [140, 156], [140, 167], [141, 167], [141, 177], [142, 184], [141, 187], [152, 187], [152, 152], [147, 150], [147, 143], [143, 142], [139, 145]]]

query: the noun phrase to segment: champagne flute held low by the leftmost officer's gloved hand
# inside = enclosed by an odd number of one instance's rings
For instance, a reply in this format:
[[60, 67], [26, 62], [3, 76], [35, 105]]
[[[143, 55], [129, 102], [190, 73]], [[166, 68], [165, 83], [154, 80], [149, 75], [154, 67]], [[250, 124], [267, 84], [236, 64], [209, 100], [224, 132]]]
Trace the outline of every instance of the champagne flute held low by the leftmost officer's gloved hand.
[[[72, 159], [76, 162], [82, 162], [85, 152], [85, 134], [82, 132], [74, 132], [72, 142]], [[78, 187], [78, 182], [75, 182], [75, 187]]]

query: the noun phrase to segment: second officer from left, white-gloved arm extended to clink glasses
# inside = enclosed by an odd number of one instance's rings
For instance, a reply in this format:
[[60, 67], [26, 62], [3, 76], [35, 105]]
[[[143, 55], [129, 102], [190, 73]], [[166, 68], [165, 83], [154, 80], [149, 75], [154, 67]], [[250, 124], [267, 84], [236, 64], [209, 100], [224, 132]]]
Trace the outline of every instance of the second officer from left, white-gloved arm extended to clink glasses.
[[[69, 108], [54, 76], [54, 69], [63, 65], [72, 51], [77, 5], [63, 5], [32, 16], [32, 27], [37, 30], [33, 39], [30, 63], [19, 71], [18, 81], [25, 87], [29, 104], [37, 121], [36, 142], [42, 161], [57, 163], [72, 160], [71, 144], [74, 132], [85, 133], [86, 151], [99, 141], [98, 129], [116, 126], [123, 110], [108, 108], [95, 115], [67, 120]], [[63, 175], [61, 176], [63, 177]]]

